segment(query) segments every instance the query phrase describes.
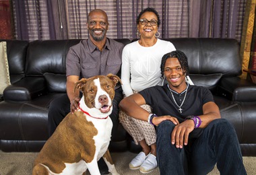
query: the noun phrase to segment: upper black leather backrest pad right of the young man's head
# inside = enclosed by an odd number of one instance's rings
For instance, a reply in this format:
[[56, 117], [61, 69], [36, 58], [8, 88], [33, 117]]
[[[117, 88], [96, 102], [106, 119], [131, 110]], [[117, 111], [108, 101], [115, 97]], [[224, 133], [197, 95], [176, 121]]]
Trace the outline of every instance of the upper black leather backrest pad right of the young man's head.
[[241, 75], [238, 41], [231, 38], [170, 38], [177, 50], [185, 52], [191, 74]]

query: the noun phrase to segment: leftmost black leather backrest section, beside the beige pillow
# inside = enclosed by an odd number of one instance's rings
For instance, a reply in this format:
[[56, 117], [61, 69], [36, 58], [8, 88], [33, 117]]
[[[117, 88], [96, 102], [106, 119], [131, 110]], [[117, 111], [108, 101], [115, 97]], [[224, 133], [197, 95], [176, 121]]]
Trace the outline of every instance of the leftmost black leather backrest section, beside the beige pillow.
[[11, 83], [15, 83], [25, 76], [26, 52], [28, 41], [24, 40], [0, 40], [7, 44], [7, 59]]

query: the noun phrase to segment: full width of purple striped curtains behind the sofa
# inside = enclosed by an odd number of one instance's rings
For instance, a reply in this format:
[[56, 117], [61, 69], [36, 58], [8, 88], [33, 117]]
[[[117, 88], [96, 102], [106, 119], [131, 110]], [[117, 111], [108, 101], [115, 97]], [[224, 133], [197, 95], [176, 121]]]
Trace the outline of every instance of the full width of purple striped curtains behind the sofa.
[[154, 7], [160, 15], [160, 38], [212, 37], [241, 40], [246, 0], [14, 2], [15, 31], [17, 38], [22, 40], [88, 38], [87, 15], [96, 8], [108, 14], [109, 38], [137, 38], [136, 17], [146, 7]]

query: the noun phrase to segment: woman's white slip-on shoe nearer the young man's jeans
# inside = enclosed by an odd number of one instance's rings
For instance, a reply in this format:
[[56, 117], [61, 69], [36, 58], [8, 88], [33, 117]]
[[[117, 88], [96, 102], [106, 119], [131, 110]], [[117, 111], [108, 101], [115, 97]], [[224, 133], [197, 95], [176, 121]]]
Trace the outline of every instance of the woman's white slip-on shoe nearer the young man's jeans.
[[140, 166], [139, 171], [141, 173], [148, 173], [152, 172], [156, 167], [158, 167], [156, 156], [150, 153], [143, 164]]

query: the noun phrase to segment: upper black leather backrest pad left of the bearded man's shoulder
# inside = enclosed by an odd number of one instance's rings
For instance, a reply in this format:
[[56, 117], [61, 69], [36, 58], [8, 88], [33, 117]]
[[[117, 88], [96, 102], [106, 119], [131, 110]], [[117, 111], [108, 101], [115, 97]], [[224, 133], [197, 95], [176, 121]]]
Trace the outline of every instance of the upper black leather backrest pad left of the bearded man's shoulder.
[[26, 75], [42, 76], [44, 73], [65, 75], [65, 57], [70, 46], [80, 40], [35, 40], [27, 53]]

